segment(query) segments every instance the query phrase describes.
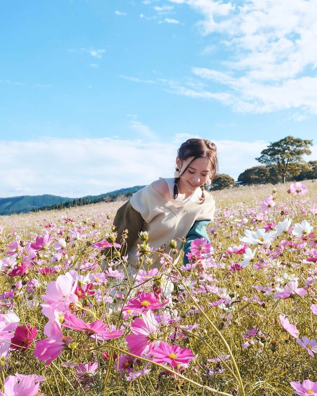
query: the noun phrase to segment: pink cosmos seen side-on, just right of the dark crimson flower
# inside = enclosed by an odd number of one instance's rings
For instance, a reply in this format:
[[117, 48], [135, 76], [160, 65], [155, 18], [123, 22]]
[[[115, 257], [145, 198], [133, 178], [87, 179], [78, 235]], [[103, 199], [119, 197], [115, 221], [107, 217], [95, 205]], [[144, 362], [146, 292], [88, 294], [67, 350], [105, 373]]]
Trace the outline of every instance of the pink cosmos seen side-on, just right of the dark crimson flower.
[[46, 360], [45, 366], [53, 362], [61, 351], [72, 342], [71, 337], [64, 337], [60, 329], [60, 324], [52, 322], [49, 331], [44, 329], [44, 334], [49, 338], [42, 339], [35, 344], [34, 356], [38, 360]]

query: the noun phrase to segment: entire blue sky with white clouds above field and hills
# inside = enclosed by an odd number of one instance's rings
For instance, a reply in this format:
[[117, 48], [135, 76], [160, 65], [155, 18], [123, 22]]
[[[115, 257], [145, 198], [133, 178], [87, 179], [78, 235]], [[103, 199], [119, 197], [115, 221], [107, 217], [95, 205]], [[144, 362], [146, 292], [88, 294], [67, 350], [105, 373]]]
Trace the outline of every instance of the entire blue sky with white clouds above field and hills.
[[[0, 196], [74, 197], [172, 177], [188, 137], [218, 142], [220, 171], [237, 178], [269, 141], [313, 139], [316, 21], [313, 0], [2, 4], [1, 166], [13, 177], [0, 172]], [[81, 187], [76, 171], [56, 176], [69, 158], [86, 174]]]

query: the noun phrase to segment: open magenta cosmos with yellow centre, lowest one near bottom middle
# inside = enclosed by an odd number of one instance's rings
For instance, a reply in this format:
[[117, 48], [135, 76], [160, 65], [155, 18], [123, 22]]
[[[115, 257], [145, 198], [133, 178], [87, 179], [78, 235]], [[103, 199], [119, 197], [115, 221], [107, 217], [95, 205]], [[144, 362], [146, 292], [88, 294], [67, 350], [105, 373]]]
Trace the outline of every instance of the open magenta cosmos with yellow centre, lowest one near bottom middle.
[[178, 345], [169, 345], [168, 343], [159, 343], [155, 348], [151, 350], [153, 362], [156, 363], [168, 363], [172, 367], [176, 367], [178, 364], [180, 367], [186, 368], [191, 359], [195, 358], [196, 355], [191, 353], [190, 349], [180, 348]]

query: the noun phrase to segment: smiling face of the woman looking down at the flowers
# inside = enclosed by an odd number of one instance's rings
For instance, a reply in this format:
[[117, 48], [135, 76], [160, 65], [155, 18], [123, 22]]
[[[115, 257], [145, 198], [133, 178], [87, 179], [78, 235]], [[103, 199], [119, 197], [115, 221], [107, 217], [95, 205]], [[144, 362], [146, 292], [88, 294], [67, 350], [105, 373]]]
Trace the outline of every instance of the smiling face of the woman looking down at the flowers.
[[192, 192], [206, 183], [212, 171], [209, 158], [196, 158], [195, 161], [189, 165], [186, 172], [182, 173], [193, 158], [194, 157], [189, 157], [181, 163], [178, 156], [176, 157], [176, 164], [181, 172], [180, 187], [183, 186], [185, 190]]

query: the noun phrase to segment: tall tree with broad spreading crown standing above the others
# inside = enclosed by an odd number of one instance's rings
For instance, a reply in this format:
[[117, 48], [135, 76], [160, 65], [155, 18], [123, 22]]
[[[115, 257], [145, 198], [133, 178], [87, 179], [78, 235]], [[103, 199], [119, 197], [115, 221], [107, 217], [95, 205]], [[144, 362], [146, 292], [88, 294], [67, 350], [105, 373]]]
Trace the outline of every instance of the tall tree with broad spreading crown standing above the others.
[[286, 183], [286, 175], [290, 164], [303, 163], [302, 156], [311, 154], [308, 146], [312, 146], [311, 140], [302, 140], [292, 136], [286, 136], [277, 142], [270, 143], [261, 151], [261, 156], [256, 158], [261, 164], [274, 165]]

